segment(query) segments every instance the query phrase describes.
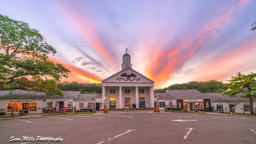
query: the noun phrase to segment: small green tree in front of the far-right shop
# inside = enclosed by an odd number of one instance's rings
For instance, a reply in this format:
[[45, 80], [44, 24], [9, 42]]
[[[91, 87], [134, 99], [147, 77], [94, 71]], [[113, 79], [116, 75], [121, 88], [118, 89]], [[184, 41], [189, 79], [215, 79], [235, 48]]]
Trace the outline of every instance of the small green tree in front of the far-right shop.
[[248, 75], [241, 74], [238, 72], [235, 76], [231, 76], [227, 86], [228, 90], [222, 94], [230, 97], [236, 97], [238, 93], [241, 93], [241, 98], [249, 98], [250, 101], [250, 114], [253, 114], [252, 98], [256, 98], [256, 74], [249, 73]]

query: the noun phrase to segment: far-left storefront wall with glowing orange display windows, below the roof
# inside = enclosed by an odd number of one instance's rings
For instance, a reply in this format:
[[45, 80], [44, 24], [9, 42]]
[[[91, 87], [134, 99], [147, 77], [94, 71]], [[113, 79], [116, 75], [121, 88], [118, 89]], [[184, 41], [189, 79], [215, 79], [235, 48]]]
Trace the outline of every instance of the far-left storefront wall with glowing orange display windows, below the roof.
[[6, 113], [19, 113], [19, 110], [23, 110], [26, 113], [41, 113], [42, 100], [0, 99], [0, 109]]

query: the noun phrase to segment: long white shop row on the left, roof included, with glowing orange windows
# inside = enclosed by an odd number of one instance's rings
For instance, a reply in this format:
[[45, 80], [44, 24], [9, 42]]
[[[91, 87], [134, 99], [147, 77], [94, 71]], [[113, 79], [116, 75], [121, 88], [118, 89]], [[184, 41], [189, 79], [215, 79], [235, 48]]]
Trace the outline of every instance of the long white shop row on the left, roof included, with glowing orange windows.
[[79, 91], [63, 91], [64, 95], [48, 96], [43, 92], [15, 89], [14, 91], [0, 91], [0, 110], [6, 113], [58, 112], [63, 105], [66, 111], [75, 110], [75, 103]]

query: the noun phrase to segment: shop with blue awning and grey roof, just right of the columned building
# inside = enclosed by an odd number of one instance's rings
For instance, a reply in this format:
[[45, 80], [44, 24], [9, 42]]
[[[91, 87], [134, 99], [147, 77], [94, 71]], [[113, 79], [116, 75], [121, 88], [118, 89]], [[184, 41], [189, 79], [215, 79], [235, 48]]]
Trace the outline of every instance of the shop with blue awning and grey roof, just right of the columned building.
[[154, 103], [159, 103], [159, 109], [164, 107], [187, 108], [188, 110], [207, 110], [210, 98], [196, 89], [166, 90], [165, 93], [154, 93]]

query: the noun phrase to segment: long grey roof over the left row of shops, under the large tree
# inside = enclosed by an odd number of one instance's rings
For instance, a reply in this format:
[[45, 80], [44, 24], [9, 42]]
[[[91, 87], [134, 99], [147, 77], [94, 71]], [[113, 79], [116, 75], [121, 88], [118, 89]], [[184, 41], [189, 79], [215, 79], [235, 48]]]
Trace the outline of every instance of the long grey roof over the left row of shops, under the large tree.
[[80, 91], [63, 91], [63, 96], [52, 95], [48, 96], [44, 92], [15, 89], [14, 91], [0, 91], [0, 99], [76, 99]]

